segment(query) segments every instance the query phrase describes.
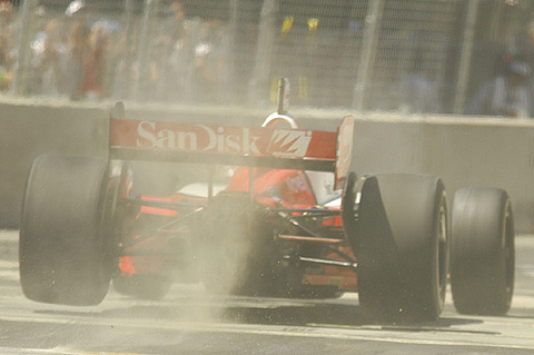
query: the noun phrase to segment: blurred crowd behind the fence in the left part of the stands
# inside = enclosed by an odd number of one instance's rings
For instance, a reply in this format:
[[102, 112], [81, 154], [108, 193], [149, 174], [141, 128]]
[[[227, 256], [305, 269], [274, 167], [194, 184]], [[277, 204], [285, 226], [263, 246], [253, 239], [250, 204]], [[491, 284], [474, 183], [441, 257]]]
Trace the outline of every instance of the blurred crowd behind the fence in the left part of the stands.
[[[182, 3], [174, 1], [160, 9], [140, 53], [142, 13], [125, 26], [86, 7], [76, 0], [62, 13], [36, 10], [24, 95], [224, 100], [228, 37], [221, 20], [187, 18]], [[18, 17], [10, 1], [0, 0], [0, 91], [10, 90], [17, 72]]]

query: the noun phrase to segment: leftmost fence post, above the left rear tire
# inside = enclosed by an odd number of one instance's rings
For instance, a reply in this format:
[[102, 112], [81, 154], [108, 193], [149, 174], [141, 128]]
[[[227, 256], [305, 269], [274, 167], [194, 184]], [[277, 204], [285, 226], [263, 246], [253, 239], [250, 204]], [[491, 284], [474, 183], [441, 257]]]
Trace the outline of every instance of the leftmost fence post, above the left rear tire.
[[17, 67], [14, 69], [11, 92], [24, 95], [28, 86], [31, 60], [31, 29], [34, 9], [39, 0], [23, 0], [20, 9], [19, 36], [17, 38]]

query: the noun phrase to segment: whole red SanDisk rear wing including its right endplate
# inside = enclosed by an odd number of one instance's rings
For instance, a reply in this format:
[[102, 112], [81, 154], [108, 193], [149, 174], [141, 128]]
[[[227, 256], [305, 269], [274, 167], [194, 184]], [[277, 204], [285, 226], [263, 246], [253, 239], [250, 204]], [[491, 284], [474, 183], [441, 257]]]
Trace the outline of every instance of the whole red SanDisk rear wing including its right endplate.
[[352, 160], [354, 117], [337, 131], [236, 127], [116, 118], [109, 158], [333, 171], [336, 189]]

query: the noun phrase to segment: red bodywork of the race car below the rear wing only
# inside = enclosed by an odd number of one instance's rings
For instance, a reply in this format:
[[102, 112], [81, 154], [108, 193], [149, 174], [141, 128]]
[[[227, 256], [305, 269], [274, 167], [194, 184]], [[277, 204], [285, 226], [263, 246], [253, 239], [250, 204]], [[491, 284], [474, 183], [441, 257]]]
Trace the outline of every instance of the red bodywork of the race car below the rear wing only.
[[[248, 168], [239, 168], [230, 179], [224, 193], [248, 193], [249, 172]], [[273, 189], [276, 189], [277, 196], [273, 198]], [[288, 208], [314, 208], [317, 206], [315, 194], [308, 181], [306, 174], [301, 170], [288, 169], [260, 169], [255, 168], [255, 201], [265, 207], [288, 207]], [[199, 204], [208, 204], [207, 198], [191, 197], [189, 195], [176, 194], [167, 198], [142, 196], [144, 200], [175, 201], [180, 203], [185, 199], [195, 200]], [[217, 196], [215, 196], [217, 198]], [[339, 209], [339, 207], [328, 207], [329, 209]], [[141, 206], [139, 218], [147, 216], [178, 217], [178, 213], [172, 209], [160, 207]], [[339, 216], [325, 218], [323, 225], [332, 230], [343, 234], [343, 225]], [[135, 238], [141, 238], [136, 235]], [[122, 274], [169, 274], [172, 267], [176, 267], [171, 256], [165, 256], [162, 253], [168, 249], [168, 243], [172, 234], [165, 230], [157, 231], [154, 236], [134, 244], [125, 252], [152, 250], [155, 255], [149, 256], [122, 256], [119, 267]], [[279, 235], [278, 240], [285, 243], [314, 243], [328, 244], [344, 254], [354, 258], [350, 246], [344, 238], [308, 238], [299, 236]], [[325, 248], [324, 257], [328, 259], [338, 259], [335, 253]], [[317, 286], [336, 286], [339, 290], [357, 290], [356, 274], [347, 268], [337, 266], [313, 266], [306, 268], [303, 277], [303, 284]]]

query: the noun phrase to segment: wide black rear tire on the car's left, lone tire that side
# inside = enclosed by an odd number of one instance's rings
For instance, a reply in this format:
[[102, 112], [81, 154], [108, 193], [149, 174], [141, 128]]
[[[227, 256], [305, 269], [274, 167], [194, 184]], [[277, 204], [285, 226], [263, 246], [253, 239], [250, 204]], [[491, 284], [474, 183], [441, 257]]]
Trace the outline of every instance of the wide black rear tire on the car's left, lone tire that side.
[[36, 302], [96, 305], [106, 296], [113, 209], [108, 162], [40, 156], [30, 169], [20, 225], [20, 283]]

